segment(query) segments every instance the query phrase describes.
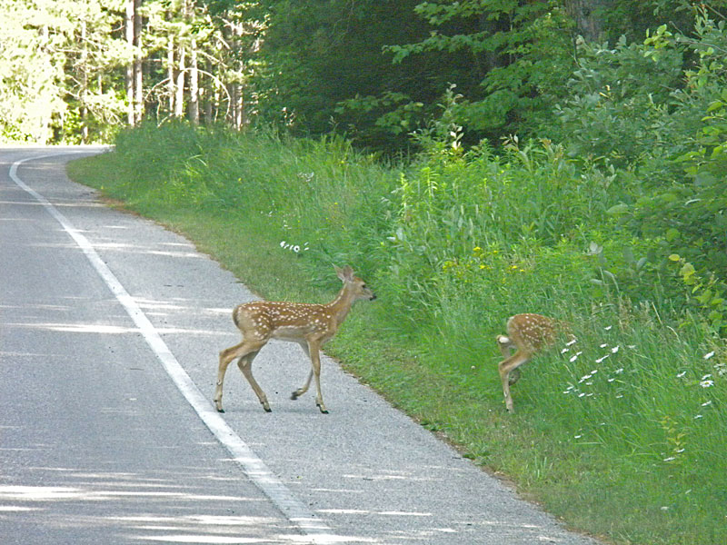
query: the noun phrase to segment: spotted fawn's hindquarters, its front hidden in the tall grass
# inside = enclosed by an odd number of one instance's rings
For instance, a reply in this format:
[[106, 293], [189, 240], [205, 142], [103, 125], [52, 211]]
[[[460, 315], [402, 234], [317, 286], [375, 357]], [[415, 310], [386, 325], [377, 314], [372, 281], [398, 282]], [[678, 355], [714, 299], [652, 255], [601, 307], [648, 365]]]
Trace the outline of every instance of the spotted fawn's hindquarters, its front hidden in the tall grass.
[[[498, 369], [503, 381], [507, 411], [515, 411], [510, 386], [520, 378], [518, 368], [523, 363], [530, 362], [535, 354], [551, 346], [558, 333], [563, 330], [567, 330], [563, 322], [541, 314], [515, 314], [507, 321], [507, 336], [498, 335], [496, 338], [504, 358]], [[511, 355], [513, 348], [516, 351]]]

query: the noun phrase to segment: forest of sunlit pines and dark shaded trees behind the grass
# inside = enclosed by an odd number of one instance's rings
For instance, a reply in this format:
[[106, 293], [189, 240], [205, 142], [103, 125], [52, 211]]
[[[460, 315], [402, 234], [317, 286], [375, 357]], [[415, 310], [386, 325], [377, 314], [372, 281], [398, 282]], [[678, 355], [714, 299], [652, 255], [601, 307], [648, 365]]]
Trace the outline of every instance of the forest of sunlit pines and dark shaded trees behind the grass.
[[[186, 118], [338, 132], [391, 153], [454, 84], [465, 144], [499, 144], [549, 133], [594, 51], [660, 25], [694, 39], [697, 10], [720, 18], [725, 2], [8, 0], [0, 138], [111, 142], [124, 125]], [[673, 75], [655, 98], [683, 87]]]

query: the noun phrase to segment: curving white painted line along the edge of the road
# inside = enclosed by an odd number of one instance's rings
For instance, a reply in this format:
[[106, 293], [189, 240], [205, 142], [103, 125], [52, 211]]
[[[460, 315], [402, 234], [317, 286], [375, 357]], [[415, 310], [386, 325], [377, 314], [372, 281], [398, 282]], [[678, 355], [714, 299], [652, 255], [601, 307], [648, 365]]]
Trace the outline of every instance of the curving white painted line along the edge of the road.
[[212, 404], [206, 400], [202, 391], [197, 388], [194, 381], [184, 371], [182, 365], [177, 362], [172, 351], [169, 350], [169, 347], [162, 337], [156, 332], [154, 325], [152, 322], [149, 322], [149, 319], [139, 308], [139, 305], [136, 304], [134, 298], [129, 292], [126, 292], [126, 289], [118, 281], [114, 272], [111, 272], [111, 269], [108, 268], [106, 263], [96, 253], [94, 246], [82, 233], [75, 229], [64, 214], [58, 212], [58, 209], [52, 203], [42, 194], [25, 184], [17, 175], [18, 166], [22, 163], [67, 153], [79, 152], [37, 155], [16, 161], [10, 167], [10, 178], [18, 187], [26, 193], [30, 193], [38, 203], [41, 203], [45, 207], [45, 210], [61, 224], [64, 231], [78, 244], [88, 258], [88, 261], [91, 262], [96, 272], [98, 272], [111, 292], [114, 293], [118, 302], [121, 303], [124, 310], [136, 324], [136, 327], [139, 328], [139, 332], [144, 336], [144, 340], [149, 344], [159, 361], [162, 362], [164, 370], [172, 378], [176, 387], [182, 392], [189, 404], [192, 405], [194, 411], [204, 421], [207, 428], [213, 432], [217, 441], [220, 441], [227, 451], [232, 454], [234, 461], [240, 464], [250, 481], [253, 481], [260, 490], [263, 490], [264, 494], [284, 513], [288, 520], [293, 522], [303, 532], [304, 536], [310, 542], [333, 543], [345, 541], [345, 538], [334, 536], [332, 530], [322, 520], [315, 517], [303, 503], [297, 500], [293, 493], [285, 487], [283, 482], [275, 477], [273, 472], [267, 468], [264, 461], [260, 460], [252, 449], [227, 425], [227, 422], [214, 410]]

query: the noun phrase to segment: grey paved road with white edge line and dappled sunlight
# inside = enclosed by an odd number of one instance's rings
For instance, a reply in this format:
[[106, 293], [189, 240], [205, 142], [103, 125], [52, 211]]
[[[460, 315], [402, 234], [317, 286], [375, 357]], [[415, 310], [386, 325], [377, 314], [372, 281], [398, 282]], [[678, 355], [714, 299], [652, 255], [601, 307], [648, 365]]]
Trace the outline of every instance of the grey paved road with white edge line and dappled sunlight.
[[0, 150], [0, 543], [593, 545], [331, 360], [331, 414], [291, 401], [297, 345], [254, 362], [272, 413], [231, 366], [218, 415], [216, 354], [254, 296], [70, 183], [89, 153]]

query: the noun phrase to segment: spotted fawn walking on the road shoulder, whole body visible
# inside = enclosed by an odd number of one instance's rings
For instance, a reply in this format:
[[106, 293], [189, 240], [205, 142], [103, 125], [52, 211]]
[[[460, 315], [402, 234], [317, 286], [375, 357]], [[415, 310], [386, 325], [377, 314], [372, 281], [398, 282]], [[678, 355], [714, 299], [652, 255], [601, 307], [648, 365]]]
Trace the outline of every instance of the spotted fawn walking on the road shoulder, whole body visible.
[[311, 359], [308, 380], [293, 392], [291, 399], [295, 400], [308, 391], [311, 380], [315, 377], [315, 388], [318, 391], [315, 404], [321, 412], [328, 412], [321, 395], [321, 346], [335, 335], [354, 302], [359, 299], [372, 301], [376, 298], [364, 281], [354, 276], [354, 270], [350, 266], [346, 265], [343, 269], [335, 267], [335, 272], [341, 282], [344, 282], [344, 287], [338, 292], [334, 301], [328, 304], [260, 301], [246, 302], [234, 309], [233, 321], [243, 333], [243, 342], [220, 352], [217, 388], [214, 391], [214, 405], [217, 411], [224, 412], [222, 408], [224, 372], [235, 358], [239, 358], [237, 366], [243, 372], [244, 378], [250, 382], [257, 398], [263, 404], [263, 409], [271, 411], [265, 392], [254, 380], [253, 360], [268, 341], [280, 339], [299, 343]]

